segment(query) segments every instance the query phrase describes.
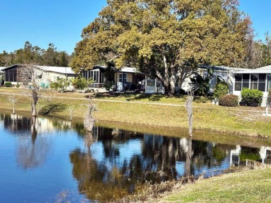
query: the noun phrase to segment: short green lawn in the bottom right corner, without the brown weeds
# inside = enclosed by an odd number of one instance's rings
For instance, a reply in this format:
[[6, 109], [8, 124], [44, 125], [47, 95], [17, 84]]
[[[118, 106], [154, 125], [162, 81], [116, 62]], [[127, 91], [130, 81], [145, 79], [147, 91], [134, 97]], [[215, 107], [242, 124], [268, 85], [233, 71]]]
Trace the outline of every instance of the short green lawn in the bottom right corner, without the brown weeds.
[[198, 180], [174, 189], [161, 202], [271, 202], [271, 169]]

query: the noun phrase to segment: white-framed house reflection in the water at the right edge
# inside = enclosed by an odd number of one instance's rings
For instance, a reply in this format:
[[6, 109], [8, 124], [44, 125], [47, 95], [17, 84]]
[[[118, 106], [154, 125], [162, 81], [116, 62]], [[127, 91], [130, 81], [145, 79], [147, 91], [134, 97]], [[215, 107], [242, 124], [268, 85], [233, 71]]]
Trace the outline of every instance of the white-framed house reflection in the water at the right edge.
[[240, 166], [241, 162], [245, 165], [249, 161], [261, 161], [262, 164], [270, 164], [271, 148], [261, 146], [261, 148], [248, 148], [236, 145], [236, 149], [230, 151], [230, 164]]

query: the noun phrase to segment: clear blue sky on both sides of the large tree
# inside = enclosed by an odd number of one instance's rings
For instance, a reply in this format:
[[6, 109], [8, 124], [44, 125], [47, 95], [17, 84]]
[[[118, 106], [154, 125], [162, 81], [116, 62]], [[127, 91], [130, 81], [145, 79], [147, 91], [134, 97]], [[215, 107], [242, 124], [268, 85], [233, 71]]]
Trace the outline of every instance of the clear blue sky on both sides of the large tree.
[[[0, 0], [0, 53], [33, 46], [71, 54], [81, 40], [82, 29], [97, 17], [106, 0]], [[271, 34], [271, 0], [240, 0], [240, 10], [250, 15], [257, 34]]]

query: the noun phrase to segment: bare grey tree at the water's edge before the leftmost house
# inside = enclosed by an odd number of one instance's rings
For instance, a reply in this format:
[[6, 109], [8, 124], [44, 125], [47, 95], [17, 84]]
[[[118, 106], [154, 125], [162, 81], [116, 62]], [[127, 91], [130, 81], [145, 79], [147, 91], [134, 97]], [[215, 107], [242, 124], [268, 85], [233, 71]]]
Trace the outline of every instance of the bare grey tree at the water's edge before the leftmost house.
[[18, 81], [22, 82], [28, 90], [26, 94], [33, 98], [31, 103], [31, 115], [37, 116], [38, 111], [36, 105], [39, 98], [42, 96], [42, 88], [39, 85], [39, 78], [42, 75], [42, 70], [36, 68], [34, 65], [22, 65], [18, 67]]

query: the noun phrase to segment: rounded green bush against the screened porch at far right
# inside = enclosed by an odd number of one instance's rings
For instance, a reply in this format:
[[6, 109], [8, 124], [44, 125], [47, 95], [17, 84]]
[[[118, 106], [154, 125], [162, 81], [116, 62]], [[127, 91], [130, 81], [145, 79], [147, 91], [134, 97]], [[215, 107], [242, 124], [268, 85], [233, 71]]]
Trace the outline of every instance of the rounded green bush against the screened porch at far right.
[[242, 100], [247, 103], [248, 106], [259, 106], [263, 100], [263, 92], [258, 89], [243, 88], [241, 91]]

